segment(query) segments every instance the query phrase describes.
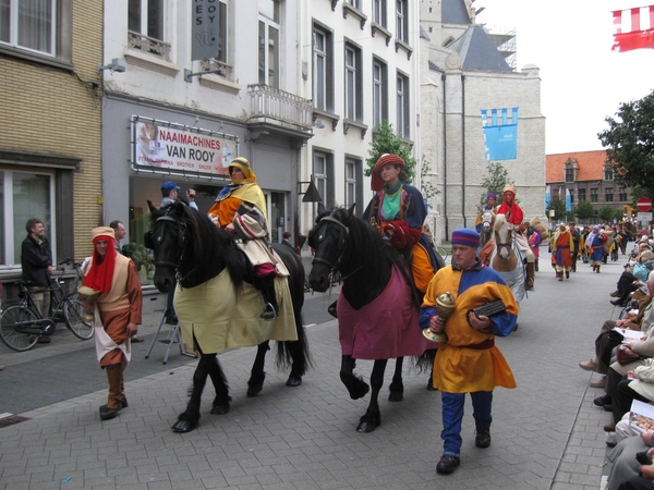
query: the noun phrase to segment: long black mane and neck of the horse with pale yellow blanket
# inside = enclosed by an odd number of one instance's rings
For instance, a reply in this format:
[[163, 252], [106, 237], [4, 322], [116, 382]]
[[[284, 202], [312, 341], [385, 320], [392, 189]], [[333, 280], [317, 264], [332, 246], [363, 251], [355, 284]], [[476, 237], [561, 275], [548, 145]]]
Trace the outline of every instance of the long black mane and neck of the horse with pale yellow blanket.
[[195, 277], [202, 278], [199, 284], [216, 277], [227, 267], [234, 287], [240, 289], [243, 284], [246, 262], [243, 253], [234, 243], [233, 235], [216, 226], [206, 215], [202, 215], [180, 200], [156, 215], [153, 212], [150, 224], [154, 225], [157, 218], [166, 212], [179, 220], [185, 229], [184, 254], [180, 264], [182, 286], [191, 286], [184, 283], [184, 273], [196, 271]]

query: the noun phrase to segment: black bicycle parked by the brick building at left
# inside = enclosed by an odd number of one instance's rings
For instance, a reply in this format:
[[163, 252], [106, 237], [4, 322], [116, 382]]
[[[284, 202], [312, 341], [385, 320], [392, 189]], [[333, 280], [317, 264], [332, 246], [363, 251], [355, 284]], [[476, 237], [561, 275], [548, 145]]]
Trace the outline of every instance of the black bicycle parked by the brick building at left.
[[[41, 335], [53, 333], [56, 324], [61, 321], [75, 336], [82, 340], [88, 340], [93, 336], [93, 323], [84, 321], [84, 308], [77, 297], [82, 262], [74, 264], [77, 280], [71, 292], [64, 293], [62, 287], [62, 284], [64, 284], [63, 274], [66, 272], [65, 266], [71, 264], [73, 264], [72, 259], [59, 264], [60, 273], [51, 280], [50, 289], [45, 287], [43, 291], [31, 293], [24, 282], [17, 283], [21, 303], [8, 306], [0, 318], [0, 339], [8, 347], [19, 352], [28, 351], [34, 347]], [[32, 297], [33, 293], [39, 292], [49, 292], [51, 295], [52, 313], [48, 318], [43, 317]]]

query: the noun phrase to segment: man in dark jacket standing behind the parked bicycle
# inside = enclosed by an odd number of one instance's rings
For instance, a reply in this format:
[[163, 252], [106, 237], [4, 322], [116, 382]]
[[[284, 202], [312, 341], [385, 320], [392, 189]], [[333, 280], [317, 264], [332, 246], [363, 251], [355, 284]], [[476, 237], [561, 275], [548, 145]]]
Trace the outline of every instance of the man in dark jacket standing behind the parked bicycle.
[[[25, 224], [27, 237], [21, 248], [21, 266], [23, 281], [27, 284], [35, 306], [44, 318], [50, 316], [50, 275], [52, 268], [52, 250], [46, 237], [44, 222], [38, 218], [29, 218]], [[49, 344], [50, 338], [41, 335], [38, 342]]]

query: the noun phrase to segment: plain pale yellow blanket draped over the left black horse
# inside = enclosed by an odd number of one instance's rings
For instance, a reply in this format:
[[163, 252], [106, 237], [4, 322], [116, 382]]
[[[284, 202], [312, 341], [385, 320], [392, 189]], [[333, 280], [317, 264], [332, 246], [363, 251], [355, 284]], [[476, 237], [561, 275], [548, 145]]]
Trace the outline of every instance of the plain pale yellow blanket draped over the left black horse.
[[243, 283], [237, 291], [223, 270], [195, 287], [177, 285], [174, 310], [182, 327], [182, 341], [205, 354], [226, 348], [252, 347], [267, 340], [295, 341], [295, 316], [287, 278], [275, 279], [279, 316], [264, 320], [262, 293]]

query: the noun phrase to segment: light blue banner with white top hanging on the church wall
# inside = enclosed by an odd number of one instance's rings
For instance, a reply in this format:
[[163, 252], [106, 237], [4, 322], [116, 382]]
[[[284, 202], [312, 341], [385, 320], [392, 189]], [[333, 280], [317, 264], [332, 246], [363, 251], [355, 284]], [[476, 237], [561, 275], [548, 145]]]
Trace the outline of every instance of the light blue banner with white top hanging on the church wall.
[[[498, 111], [501, 121], [498, 121]], [[518, 158], [518, 108], [511, 108], [511, 122], [509, 109], [482, 109], [482, 125], [484, 127], [484, 146], [486, 160], [516, 160]]]

